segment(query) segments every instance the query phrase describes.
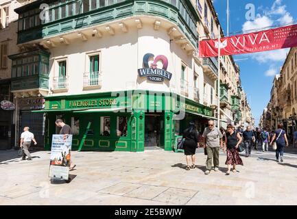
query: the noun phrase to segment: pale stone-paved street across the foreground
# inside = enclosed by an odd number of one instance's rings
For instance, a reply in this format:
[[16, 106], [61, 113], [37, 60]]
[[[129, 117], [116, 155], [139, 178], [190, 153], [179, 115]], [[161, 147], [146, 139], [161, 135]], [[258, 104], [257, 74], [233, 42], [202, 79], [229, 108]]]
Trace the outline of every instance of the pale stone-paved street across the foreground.
[[[292, 149], [291, 149], [292, 151]], [[294, 151], [294, 150], [293, 150]], [[245, 166], [226, 176], [204, 175], [206, 156], [185, 170], [182, 153], [76, 152], [71, 183], [51, 183], [49, 151], [21, 161], [17, 151], [0, 151], [1, 205], [296, 205], [297, 155], [277, 164], [274, 153], [242, 157]]]

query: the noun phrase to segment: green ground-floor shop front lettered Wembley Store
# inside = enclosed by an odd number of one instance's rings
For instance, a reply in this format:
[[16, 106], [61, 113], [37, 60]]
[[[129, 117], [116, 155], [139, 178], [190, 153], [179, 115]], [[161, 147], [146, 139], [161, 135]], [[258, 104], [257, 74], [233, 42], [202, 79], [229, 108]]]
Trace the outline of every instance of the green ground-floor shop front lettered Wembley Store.
[[45, 113], [47, 150], [52, 135], [60, 131], [55, 125], [58, 118], [71, 126], [73, 150], [134, 152], [154, 146], [171, 151], [176, 136], [191, 120], [201, 132], [212, 118], [209, 107], [176, 94], [146, 90], [47, 96], [45, 109], [34, 112]]

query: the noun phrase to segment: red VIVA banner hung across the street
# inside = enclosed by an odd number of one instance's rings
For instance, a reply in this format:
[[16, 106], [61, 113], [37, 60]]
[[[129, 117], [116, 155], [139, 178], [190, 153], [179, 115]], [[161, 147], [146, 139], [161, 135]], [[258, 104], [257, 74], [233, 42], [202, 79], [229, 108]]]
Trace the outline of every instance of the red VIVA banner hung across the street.
[[222, 38], [219, 45], [218, 41], [217, 39], [201, 41], [200, 57], [217, 56], [218, 46], [220, 46], [221, 55], [239, 55], [297, 47], [297, 25]]

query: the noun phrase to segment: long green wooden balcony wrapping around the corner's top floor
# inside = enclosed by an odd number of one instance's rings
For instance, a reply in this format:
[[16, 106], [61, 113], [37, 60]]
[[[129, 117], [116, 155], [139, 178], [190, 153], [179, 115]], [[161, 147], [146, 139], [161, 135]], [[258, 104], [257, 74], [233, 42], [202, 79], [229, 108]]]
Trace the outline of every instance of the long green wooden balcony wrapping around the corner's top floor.
[[[49, 10], [41, 11], [40, 4]], [[18, 43], [92, 27], [132, 16], [149, 15], [175, 23], [197, 47], [198, 13], [189, 0], [37, 0], [15, 10], [19, 14]], [[48, 16], [47, 16], [48, 12]]]

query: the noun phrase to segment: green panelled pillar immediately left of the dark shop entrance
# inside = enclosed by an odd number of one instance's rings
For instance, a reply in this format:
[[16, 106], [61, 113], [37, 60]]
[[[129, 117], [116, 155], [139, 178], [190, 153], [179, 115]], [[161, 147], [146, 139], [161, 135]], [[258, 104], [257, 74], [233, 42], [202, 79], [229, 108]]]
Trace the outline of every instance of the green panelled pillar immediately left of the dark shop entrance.
[[131, 117], [131, 151], [144, 151], [145, 113], [134, 112]]

